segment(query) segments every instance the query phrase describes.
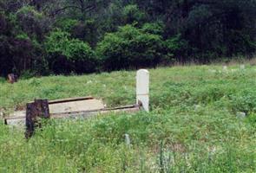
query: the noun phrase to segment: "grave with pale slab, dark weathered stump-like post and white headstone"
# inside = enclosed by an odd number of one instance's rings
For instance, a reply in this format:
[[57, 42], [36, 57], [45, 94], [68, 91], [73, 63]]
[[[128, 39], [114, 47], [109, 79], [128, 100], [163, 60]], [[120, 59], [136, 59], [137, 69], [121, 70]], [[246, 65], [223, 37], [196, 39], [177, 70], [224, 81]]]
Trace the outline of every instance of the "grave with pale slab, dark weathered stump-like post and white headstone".
[[136, 104], [107, 108], [101, 99], [93, 97], [70, 99], [35, 99], [27, 104], [25, 112], [15, 112], [15, 116], [4, 119], [5, 125], [26, 125], [26, 138], [30, 138], [36, 127], [41, 127], [39, 119], [89, 118], [108, 112], [149, 112], [149, 72], [141, 69], [136, 77]]

